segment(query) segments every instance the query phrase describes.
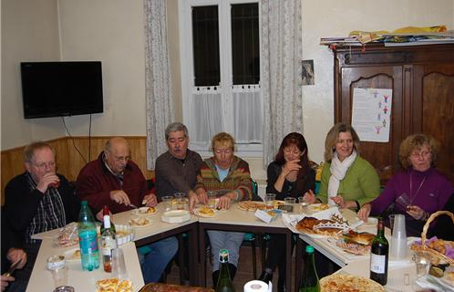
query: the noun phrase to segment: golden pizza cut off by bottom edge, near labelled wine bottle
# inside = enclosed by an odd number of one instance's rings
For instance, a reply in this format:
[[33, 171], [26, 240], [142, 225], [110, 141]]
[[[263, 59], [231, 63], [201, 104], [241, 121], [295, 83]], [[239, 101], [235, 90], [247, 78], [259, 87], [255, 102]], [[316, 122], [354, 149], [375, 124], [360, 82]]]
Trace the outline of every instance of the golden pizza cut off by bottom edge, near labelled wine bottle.
[[385, 288], [366, 277], [334, 274], [320, 280], [322, 292], [385, 292]]

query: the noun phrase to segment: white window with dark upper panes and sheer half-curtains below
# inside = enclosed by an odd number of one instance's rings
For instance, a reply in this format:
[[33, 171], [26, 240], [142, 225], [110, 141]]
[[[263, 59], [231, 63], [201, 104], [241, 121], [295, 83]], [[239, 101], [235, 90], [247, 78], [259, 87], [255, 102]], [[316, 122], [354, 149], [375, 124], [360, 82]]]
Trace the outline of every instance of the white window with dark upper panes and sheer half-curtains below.
[[191, 149], [208, 151], [212, 136], [232, 133], [240, 155], [261, 156], [259, 3], [181, 0], [183, 120]]

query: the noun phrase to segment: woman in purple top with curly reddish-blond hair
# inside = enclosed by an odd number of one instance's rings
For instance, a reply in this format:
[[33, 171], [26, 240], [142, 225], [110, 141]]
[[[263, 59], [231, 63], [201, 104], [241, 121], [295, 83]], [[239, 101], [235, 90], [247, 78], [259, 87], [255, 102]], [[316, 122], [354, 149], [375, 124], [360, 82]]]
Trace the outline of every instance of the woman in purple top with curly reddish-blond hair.
[[405, 214], [407, 235], [419, 236], [428, 216], [443, 210], [452, 184], [435, 169], [439, 143], [424, 134], [408, 136], [400, 144], [399, 161], [404, 169], [395, 174], [377, 199], [366, 203], [358, 217], [382, 214], [394, 203], [394, 214]]

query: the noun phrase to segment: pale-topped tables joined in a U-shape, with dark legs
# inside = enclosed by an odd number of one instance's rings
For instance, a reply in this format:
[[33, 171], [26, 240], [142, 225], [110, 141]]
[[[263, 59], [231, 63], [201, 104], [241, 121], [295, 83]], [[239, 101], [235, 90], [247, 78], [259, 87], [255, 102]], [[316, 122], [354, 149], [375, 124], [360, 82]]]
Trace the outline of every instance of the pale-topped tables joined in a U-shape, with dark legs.
[[[206, 230], [223, 230], [232, 232], [244, 232], [255, 234], [282, 234], [286, 238], [286, 255], [285, 264], [287, 267], [286, 287], [291, 286], [291, 276], [294, 275], [294, 287], [298, 287], [301, 274], [303, 245], [313, 245], [317, 251], [331, 259], [336, 265], [341, 266], [341, 269], [336, 273], [344, 273], [356, 276], [365, 276], [368, 278], [369, 270], [369, 255], [352, 255], [344, 251], [342, 248], [335, 245], [335, 239], [327, 236], [314, 236], [301, 234], [288, 222], [284, 220], [284, 216], [305, 215], [301, 213], [298, 205], [295, 205], [294, 213], [283, 214], [277, 216], [270, 223], [266, 223], [255, 216], [252, 211], [245, 211], [239, 208], [238, 203], [233, 203], [228, 210], [215, 210], [214, 215], [205, 216], [200, 213], [191, 214], [189, 219], [181, 223], [167, 223], [161, 220], [162, 214], [166, 212], [166, 206], [163, 203], [158, 204], [156, 213], [147, 216], [149, 224], [140, 227], [133, 227], [134, 238], [133, 242], [121, 245], [124, 250], [126, 266], [129, 272], [130, 279], [134, 285], [134, 291], [138, 291], [139, 287], [143, 286], [143, 278], [140, 271], [139, 258], [136, 252], [136, 247], [148, 245], [173, 235], [185, 234], [188, 236], [189, 258], [183, 258], [182, 249], [184, 245], [180, 245], [179, 258], [182, 261], [188, 260], [189, 276], [191, 286], [206, 287], [206, 246], [205, 236]], [[356, 214], [351, 210], [339, 210], [340, 213], [348, 220], [357, 219]], [[129, 224], [129, 220], [135, 214], [133, 211], [126, 211], [119, 214], [113, 214], [112, 221], [117, 224]], [[365, 224], [356, 228], [357, 231], [366, 231], [376, 234], [377, 225]], [[33, 238], [42, 239], [42, 244], [36, 258], [32, 276], [27, 288], [30, 292], [51, 291], [52, 278], [50, 272], [46, 270], [46, 259], [51, 255], [63, 255], [68, 250], [66, 247], [56, 247], [54, 239], [58, 230], [51, 230], [45, 233], [33, 235]], [[292, 237], [296, 234], [295, 248], [295, 268], [292, 269]], [[391, 242], [390, 231], [386, 229], [388, 242]], [[214, 251], [213, 251], [214, 252]], [[404, 260], [395, 260], [390, 258], [388, 282], [385, 287], [387, 291], [413, 291], [418, 288], [415, 284], [416, 268], [415, 264], [409, 259], [411, 252], [408, 253], [408, 258]], [[68, 285], [76, 287], [77, 291], [94, 291], [95, 282], [98, 279], [108, 277], [102, 268], [93, 272], [83, 271], [80, 261], [68, 262]], [[182, 269], [181, 269], [182, 270]], [[43, 279], [45, 279], [43, 281]], [[404, 281], [405, 279], [405, 281]], [[409, 284], [408, 284], [409, 283]], [[184, 281], [181, 281], [184, 284]]]

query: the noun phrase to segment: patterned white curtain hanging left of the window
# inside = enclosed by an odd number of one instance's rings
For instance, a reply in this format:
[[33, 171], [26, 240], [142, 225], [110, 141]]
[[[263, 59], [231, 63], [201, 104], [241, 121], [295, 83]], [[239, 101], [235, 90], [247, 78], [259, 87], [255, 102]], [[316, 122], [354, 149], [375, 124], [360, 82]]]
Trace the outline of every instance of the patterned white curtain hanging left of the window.
[[147, 112], [147, 168], [167, 151], [164, 130], [173, 121], [166, 0], [144, 0], [145, 99]]

